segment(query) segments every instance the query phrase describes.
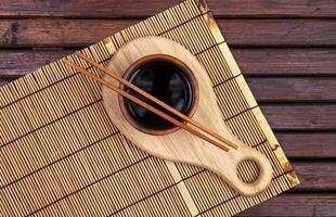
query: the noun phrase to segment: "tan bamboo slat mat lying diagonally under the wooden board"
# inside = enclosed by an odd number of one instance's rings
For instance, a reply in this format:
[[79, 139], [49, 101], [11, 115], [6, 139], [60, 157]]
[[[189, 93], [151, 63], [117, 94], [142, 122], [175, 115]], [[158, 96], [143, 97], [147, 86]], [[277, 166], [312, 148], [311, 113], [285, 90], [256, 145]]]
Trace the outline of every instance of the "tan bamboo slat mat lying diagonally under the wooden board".
[[[1, 216], [232, 216], [298, 184], [204, 1], [186, 0], [82, 51], [106, 65], [143, 36], [176, 40], [202, 62], [228, 127], [271, 161], [269, 189], [245, 197], [208, 170], [140, 151], [112, 124], [100, 85], [60, 60], [1, 87]], [[240, 168], [244, 180], [256, 175], [253, 164]]]

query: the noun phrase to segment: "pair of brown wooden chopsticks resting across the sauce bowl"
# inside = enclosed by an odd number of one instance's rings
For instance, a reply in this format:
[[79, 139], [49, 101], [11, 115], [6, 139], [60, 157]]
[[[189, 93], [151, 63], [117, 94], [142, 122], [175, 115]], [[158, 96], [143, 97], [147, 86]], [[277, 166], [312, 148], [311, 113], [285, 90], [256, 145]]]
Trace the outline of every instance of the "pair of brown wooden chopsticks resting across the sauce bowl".
[[[120, 84], [125, 85], [126, 87], [134, 90], [135, 92], [142, 94], [143, 97], [150, 99], [151, 101], [155, 102], [156, 104], [158, 104], [159, 106], [164, 107], [165, 110], [171, 112], [172, 114], [177, 115], [178, 117], [182, 118], [184, 122], [186, 123], [190, 123], [191, 125], [193, 125], [194, 127], [207, 132], [208, 135], [212, 136], [214, 138], [216, 138], [217, 140], [223, 142], [224, 144], [233, 148], [233, 149], [237, 149], [238, 146], [229, 141], [228, 139], [223, 138], [222, 136], [218, 135], [217, 132], [206, 128], [205, 126], [203, 126], [202, 124], [199, 123], [196, 123], [194, 122], [193, 119], [191, 119], [190, 117], [188, 117], [186, 115], [180, 113], [179, 111], [175, 110], [173, 107], [169, 106], [168, 104], [164, 103], [163, 101], [156, 99], [155, 97], [151, 95], [150, 93], [145, 92], [144, 90], [138, 88], [137, 86], [134, 86], [133, 84], [129, 82], [128, 80], [124, 79], [122, 77], [119, 77], [116, 73], [114, 73], [113, 71], [108, 69], [108, 68], [105, 68], [104, 66], [102, 66], [101, 64], [96, 63], [95, 61], [93, 61], [92, 59], [88, 58], [87, 55], [80, 53], [80, 52], [76, 52], [75, 53], [78, 58], [87, 61], [88, 63], [90, 63], [92, 66], [101, 69], [102, 72], [104, 72], [105, 74], [109, 75], [111, 77], [113, 77], [114, 79], [118, 80]], [[199, 131], [189, 127], [188, 125], [185, 125], [184, 123], [182, 122], [179, 122], [178, 119], [167, 115], [166, 113], [157, 110], [156, 107], [139, 100], [138, 98], [129, 94], [128, 92], [126, 92], [125, 90], [120, 89], [119, 87], [116, 87], [109, 82], [107, 82], [106, 80], [104, 80], [103, 78], [100, 78], [95, 75], [93, 75], [92, 73], [90, 73], [89, 71], [76, 65], [75, 63], [73, 62], [69, 62], [67, 60], [64, 60], [64, 63], [67, 64], [68, 66], [75, 68], [76, 71], [82, 73], [83, 75], [92, 78], [93, 80], [100, 82], [101, 85], [103, 86], [106, 86], [107, 88], [116, 91], [117, 93], [119, 93], [120, 95], [127, 98], [128, 100], [139, 104], [140, 106], [155, 113], [156, 115], [160, 116], [161, 118], [183, 128], [184, 130], [193, 133], [194, 136], [197, 136], [206, 141], [208, 141], [209, 143], [224, 150], [224, 151], [229, 151], [228, 146], [225, 146], [223, 143], [220, 143], [203, 133], [201, 133]]]

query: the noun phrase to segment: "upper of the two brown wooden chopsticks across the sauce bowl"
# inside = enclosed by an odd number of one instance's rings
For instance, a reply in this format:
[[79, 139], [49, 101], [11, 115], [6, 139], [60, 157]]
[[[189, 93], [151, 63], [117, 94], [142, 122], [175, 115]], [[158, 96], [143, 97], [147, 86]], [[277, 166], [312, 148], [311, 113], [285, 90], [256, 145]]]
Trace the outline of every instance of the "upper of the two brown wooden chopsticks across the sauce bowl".
[[130, 81], [124, 79], [122, 77], [119, 77], [113, 71], [111, 71], [108, 68], [105, 68], [104, 66], [102, 66], [98, 62], [93, 61], [92, 59], [88, 58], [87, 55], [80, 53], [79, 51], [76, 51], [75, 54], [77, 56], [81, 58], [82, 60], [87, 61], [91, 65], [95, 66], [96, 68], [103, 71], [104, 73], [106, 73], [107, 75], [109, 75], [114, 79], [118, 80], [119, 82], [121, 82], [126, 87], [134, 90], [135, 92], [138, 92], [138, 93], [142, 94], [143, 97], [150, 99], [152, 102], [155, 102], [156, 104], [160, 105], [161, 107], [166, 108], [167, 111], [169, 111], [172, 114], [177, 115], [178, 117], [182, 118], [184, 122], [190, 123], [191, 125], [195, 126], [196, 128], [199, 128], [201, 130], [207, 132], [208, 135], [211, 135], [214, 138], [224, 142], [225, 144], [228, 144], [229, 146], [232, 146], [233, 149], [237, 149], [238, 148], [235, 143], [231, 142], [230, 140], [225, 139], [224, 137], [220, 136], [219, 133], [208, 129], [204, 125], [202, 125], [202, 124], [191, 119], [189, 116], [186, 116], [183, 113], [177, 111], [176, 108], [173, 108], [170, 105], [166, 104], [165, 102], [158, 100], [157, 98], [151, 95], [150, 93], [145, 92], [144, 90], [138, 88], [137, 86], [134, 86]]

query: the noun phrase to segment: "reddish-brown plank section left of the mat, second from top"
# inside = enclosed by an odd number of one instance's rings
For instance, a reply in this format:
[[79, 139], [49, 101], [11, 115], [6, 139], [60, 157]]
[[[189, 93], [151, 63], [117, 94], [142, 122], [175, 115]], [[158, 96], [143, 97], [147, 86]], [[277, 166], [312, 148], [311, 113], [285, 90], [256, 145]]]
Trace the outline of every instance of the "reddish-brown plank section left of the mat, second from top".
[[2, 20], [1, 47], [87, 47], [138, 23], [132, 20]]

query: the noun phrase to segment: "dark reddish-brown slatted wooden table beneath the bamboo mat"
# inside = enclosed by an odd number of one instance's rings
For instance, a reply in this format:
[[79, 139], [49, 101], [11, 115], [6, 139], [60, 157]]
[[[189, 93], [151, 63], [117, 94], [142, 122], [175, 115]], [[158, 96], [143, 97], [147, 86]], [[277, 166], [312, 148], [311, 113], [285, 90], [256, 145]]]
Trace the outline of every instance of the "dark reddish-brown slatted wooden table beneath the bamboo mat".
[[[0, 85], [177, 0], [1, 0]], [[247, 216], [336, 216], [336, 1], [208, 0], [301, 184]]]

